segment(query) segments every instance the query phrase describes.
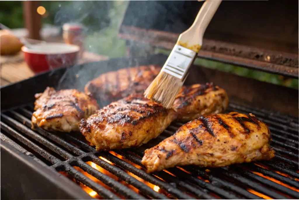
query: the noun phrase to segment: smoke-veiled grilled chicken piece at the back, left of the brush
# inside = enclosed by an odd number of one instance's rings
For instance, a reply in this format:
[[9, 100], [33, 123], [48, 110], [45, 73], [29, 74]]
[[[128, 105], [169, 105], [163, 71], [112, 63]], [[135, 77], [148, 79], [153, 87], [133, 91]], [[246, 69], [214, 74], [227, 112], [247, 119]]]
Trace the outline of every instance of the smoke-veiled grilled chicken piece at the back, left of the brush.
[[110, 102], [134, 93], [143, 94], [160, 70], [157, 65], [147, 65], [104, 73], [86, 84], [85, 93]]

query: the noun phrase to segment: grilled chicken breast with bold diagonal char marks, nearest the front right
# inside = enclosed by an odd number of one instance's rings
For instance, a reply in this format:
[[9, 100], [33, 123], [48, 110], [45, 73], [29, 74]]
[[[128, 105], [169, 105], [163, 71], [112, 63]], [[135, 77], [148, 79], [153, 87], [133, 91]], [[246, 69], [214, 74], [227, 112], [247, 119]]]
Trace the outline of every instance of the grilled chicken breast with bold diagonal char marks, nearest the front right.
[[148, 172], [154, 172], [174, 166], [223, 167], [270, 160], [274, 157], [270, 142], [269, 128], [252, 114], [207, 115], [147, 149], [141, 162]]

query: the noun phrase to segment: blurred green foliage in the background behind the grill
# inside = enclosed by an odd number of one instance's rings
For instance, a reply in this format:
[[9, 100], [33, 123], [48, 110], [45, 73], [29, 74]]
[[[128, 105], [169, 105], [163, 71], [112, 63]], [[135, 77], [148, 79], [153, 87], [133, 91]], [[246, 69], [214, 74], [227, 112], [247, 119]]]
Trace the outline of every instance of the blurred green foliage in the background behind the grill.
[[[47, 15], [43, 17], [42, 22], [60, 28], [66, 22], [80, 22], [87, 27], [86, 49], [88, 51], [109, 57], [122, 57], [126, 55], [126, 41], [118, 39], [117, 33], [128, 2], [129, 0], [42, 0], [41, 5], [47, 10]], [[0, 22], [10, 28], [22, 28], [24, 26], [22, 1], [1, 0]], [[144, 55], [144, 52], [138, 48], [136, 52], [136, 56], [138, 53]], [[170, 53], [169, 50], [158, 48], [155, 49], [155, 52], [166, 55]], [[288, 79], [279, 75], [202, 58], [196, 59], [195, 64], [299, 89], [298, 79]]]

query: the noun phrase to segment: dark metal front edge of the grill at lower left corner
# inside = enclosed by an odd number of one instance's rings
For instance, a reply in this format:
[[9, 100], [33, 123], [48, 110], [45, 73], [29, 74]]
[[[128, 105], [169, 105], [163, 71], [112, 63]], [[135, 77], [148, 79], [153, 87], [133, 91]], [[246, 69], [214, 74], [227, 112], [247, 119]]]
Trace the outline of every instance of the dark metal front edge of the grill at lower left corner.
[[4, 200], [32, 200], [41, 197], [46, 200], [93, 199], [77, 185], [69, 184], [67, 178], [45, 167], [45, 164], [33, 154], [8, 137], [0, 137], [0, 155], [1, 162], [6, 163], [6, 165], [0, 164], [0, 196]]

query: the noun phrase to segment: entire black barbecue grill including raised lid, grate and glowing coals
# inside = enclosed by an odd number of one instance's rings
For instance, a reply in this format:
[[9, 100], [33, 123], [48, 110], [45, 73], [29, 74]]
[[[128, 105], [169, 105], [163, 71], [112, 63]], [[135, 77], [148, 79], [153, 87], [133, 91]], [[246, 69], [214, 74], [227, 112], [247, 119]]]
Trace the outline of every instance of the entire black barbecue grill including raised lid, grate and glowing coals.
[[[160, 136], [139, 148], [110, 152], [95, 151], [80, 133], [30, 129], [34, 94], [47, 86], [83, 90], [90, 79], [101, 73], [129, 66], [162, 66], [167, 56], [133, 58], [133, 50], [139, 47], [138, 42], [172, 49], [179, 33], [192, 24], [201, 6], [194, 0], [171, 2], [130, 0], [118, 33], [118, 37], [127, 40], [130, 58], [57, 69], [0, 88], [0, 97], [5, 97], [0, 103], [1, 200], [299, 199], [299, 92], [296, 89], [196, 64], [191, 67], [186, 84], [198, 80], [214, 82], [230, 97], [227, 112], [253, 113], [271, 130], [271, 146], [276, 152], [272, 160], [217, 169], [184, 166], [146, 173], [141, 164], [144, 150], [175, 133], [182, 125], [179, 122], [173, 122]], [[298, 79], [299, 57], [294, 54], [299, 52], [298, 37], [289, 35], [298, 29], [295, 2], [223, 1], [206, 31], [199, 57]], [[293, 9], [282, 9], [284, 6]], [[260, 10], [252, 15], [256, 9]], [[161, 20], [153, 20], [153, 16]], [[276, 30], [273, 23], [284, 28]], [[232, 25], [239, 28], [238, 33]], [[99, 102], [100, 106], [107, 103]]]

